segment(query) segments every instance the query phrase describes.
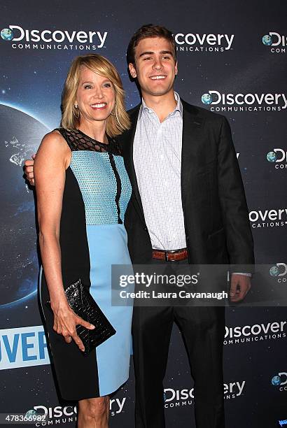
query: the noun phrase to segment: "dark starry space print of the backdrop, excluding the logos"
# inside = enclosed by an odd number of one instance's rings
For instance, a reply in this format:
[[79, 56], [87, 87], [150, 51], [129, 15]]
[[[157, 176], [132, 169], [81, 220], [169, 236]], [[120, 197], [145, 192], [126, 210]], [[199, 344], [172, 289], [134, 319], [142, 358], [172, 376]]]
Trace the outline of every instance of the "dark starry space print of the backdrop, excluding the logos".
[[[104, 48], [95, 51], [20, 50], [13, 49], [12, 42], [0, 38], [0, 104], [3, 104], [0, 106], [3, 129], [0, 194], [6, 207], [1, 214], [0, 262], [4, 279], [0, 303], [13, 303], [34, 290], [29, 299], [17, 305], [3, 306], [2, 309], [0, 306], [0, 329], [5, 329], [38, 325], [42, 321], [36, 297], [38, 258], [35, 250], [34, 195], [22, 179], [22, 162], [36, 151], [43, 134], [59, 125], [60, 97], [71, 60], [88, 52], [97, 52], [111, 59], [123, 79], [127, 108], [131, 108], [138, 104], [139, 94], [127, 74], [125, 53], [130, 36], [142, 24], [163, 24], [174, 34], [234, 34], [232, 48], [224, 52], [178, 52], [176, 90], [181, 97], [191, 104], [210, 108], [201, 101], [202, 94], [209, 90], [224, 94], [286, 94], [286, 53], [272, 54], [261, 39], [269, 31], [286, 35], [287, 8], [286, 3], [279, 0], [272, 3], [266, 0], [260, 3], [228, 0], [146, 0], [143, 3], [130, 0], [39, 3], [32, 0], [23, 3], [16, 0], [2, 3], [0, 11], [1, 29], [18, 25], [29, 30], [108, 31]], [[274, 148], [287, 150], [286, 109], [223, 114], [228, 117], [235, 148], [239, 152], [250, 211], [287, 208], [287, 169], [276, 170], [274, 164], [266, 160], [267, 152]], [[18, 143], [13, 137], [18, 138]], [[20, 159], [16, 164], [9, 162], [15, 154]], [[18, 218], [21, 220], [18, 221]], [[287, 262], [286, 227], [253, 229], [258, 263], [271, 266], [277, 262]], [[10, 269], [4, 269], [11, 263], [18, 267], [18, 278], [11, 279]], [[20, 281], [22, 276], [30, 278], [30, 283]], [[226, 324], [235, 327], [280, 320], [286, 320], [286, 308], [239, 307], [228, 309]], [[246, 381], [244, 392], [239, 397], [226, 399], [227, 428], [272, 428], [279, 426], [278, 420], [287, 418], [287, 391], [279, 392], [271, 384], [272, 376], [280, 371], [287, 371], [286, 335], [225, 345], [225, 382]], [[52, 368], [47, 365], [1, 371], [3, 394], [0, 413], [25, 413], [38, 405], [59, 405], [57, 387], [51, 375]], [[164, 386], [174, 390], [193, 387], [186, 352], [177, 328], [172, 336]], [[126, 402], [123, 412], [111, 418], [111, 427], [133, 427], [132, 369], [129, 382], [116, 397], [126, 397]], [[193, 407], [190, 404], [167, 408], [167, 427], [195, 427]], [[64, 426], [74, 427], [75, 422], [66, 422]]]

